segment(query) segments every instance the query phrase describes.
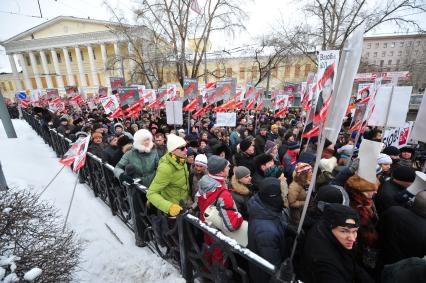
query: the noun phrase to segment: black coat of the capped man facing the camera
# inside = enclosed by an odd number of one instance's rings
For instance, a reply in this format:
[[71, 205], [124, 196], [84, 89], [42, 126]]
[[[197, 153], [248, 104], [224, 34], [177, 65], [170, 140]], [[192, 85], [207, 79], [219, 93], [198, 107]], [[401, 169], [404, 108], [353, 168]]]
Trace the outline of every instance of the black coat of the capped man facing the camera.
[[321, 220], [309, 230], [303, 248], [305, 283], [374, 282], [356, 261], [353, 250], [345, 249]]

